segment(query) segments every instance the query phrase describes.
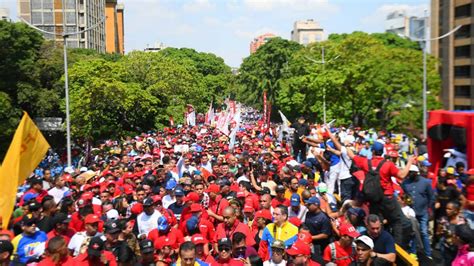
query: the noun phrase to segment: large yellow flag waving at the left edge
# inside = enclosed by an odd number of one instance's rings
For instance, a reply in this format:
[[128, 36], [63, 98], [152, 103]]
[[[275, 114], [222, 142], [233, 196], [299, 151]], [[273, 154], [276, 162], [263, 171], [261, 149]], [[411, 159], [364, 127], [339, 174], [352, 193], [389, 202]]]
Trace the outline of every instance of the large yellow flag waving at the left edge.
[[15, 206], [18, 185], [35, 170], [49, 149], [49, 144], [26, 112], [16, 129], [0, 168], [0, 217], [3, 228]]

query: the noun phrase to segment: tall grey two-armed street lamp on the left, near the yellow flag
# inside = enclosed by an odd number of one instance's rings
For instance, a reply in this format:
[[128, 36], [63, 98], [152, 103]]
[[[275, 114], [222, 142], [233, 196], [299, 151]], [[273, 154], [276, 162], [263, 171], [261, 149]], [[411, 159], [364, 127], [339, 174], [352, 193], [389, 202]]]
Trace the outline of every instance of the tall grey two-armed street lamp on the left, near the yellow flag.
[[90, 26], [89, 28], [86, 28], [81, 31], [76, 31], [76, 32], [66, 32], [66, 10], [64, 6], [64, 0], [62, 0], [62, 6], [63, 6], [63, 32], [62, 33], [56, 33], [56, 32], [49, 32], [45, 31], [43, 29], [40, 29], [28, 21], [24, 20], [23, 18], [20, 17], [20, 20], [23, 21], [26, 25], [30, 26], [31, 28], [45, 33], [45, 34], [50, 34], [50, 35], [60, 35], [63, 37], [64, 45], [63, 45], [63, 57], [64, 57], [64, 90], [65, 90], [65, 98], [66, 98], [66, 149], [67, 149], [67, 166], [71, 167], [72, 165], [72, 160], [71, 160], [71, 121], [70, 121], [70, 115], [69, 115], [69, 82], [68, 82], [68, 67], [67, 67], [67, 37], [71, 35], [78, 35], [82, 34], [84, 32], [90, 31], [92, 29], [97, 28], [100, 24], [102, 24], [105, 21], [105, 17], [103, 17], [97, 24], [94, 24]]

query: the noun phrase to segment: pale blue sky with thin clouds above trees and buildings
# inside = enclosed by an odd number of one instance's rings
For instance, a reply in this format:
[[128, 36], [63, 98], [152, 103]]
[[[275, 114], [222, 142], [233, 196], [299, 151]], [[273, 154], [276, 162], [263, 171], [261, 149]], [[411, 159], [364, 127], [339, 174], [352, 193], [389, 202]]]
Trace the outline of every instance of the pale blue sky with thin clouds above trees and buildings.
[[[16, 18], [17, 0], [0, 0]], [[383, 32], [388, 13], [423, 16], [429, 0], [119, 0], [124, 3], [125, 50], [155, 43], [188, 47], [238, 67], [252, 39], [273, 33], [290, 39], [296, 20], [314, 19], [326, 35]]]

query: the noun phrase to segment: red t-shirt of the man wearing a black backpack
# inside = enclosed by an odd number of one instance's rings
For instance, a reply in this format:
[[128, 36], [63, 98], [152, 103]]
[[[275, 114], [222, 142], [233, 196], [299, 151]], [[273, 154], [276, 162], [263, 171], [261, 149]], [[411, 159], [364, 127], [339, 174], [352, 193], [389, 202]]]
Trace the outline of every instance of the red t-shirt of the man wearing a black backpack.
[[[382, 160], [383, 160], [382, 157], [379, 157], [379, 156], [373, 157], [371, 161], [372, 168], [375, 170]], [[356, 164], [357, 167], [359, 167], [362, 171], [364, 171], [364, 173], [367, 174], [369, 172], [369, 165], [367, 162], [367, 158], [362, 157], [362, 156], [355, 156], [354, 163]], [[392, 176], [397, 176], [398, 171], [399, 170], [397, 166], [392, 161], [385, 161], [382, 168], [380, 168], [380, 185], [382, 186], [382, 189], [384, 190], [385, 195], [390, 195], [390, 196], [393, 195], [394, 188], [393, 188]]]

